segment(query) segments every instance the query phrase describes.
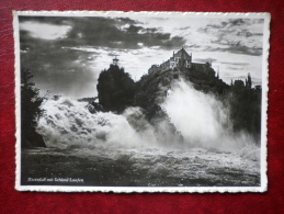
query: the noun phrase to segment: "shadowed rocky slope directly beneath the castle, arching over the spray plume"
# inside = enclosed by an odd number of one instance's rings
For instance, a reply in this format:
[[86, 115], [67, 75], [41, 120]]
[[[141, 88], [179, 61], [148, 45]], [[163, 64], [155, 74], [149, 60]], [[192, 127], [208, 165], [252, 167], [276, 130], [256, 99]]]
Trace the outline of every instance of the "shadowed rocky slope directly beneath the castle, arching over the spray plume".
[[[204, 69], [206, 70], [204, 71]], [[198, 68], [170, 69], [152, 66], [148, 75], [143, 76], [137, 82], [135, 104], [144, 108], [149, 119], [158, 116], [161, 114], [159, 106], [164, 101], [172, 82], [180, 78], [191, 81], [196, 90], [221, 93], [228, 86], [212, 72], [215, 71], [209, 67], [200, 70]]]

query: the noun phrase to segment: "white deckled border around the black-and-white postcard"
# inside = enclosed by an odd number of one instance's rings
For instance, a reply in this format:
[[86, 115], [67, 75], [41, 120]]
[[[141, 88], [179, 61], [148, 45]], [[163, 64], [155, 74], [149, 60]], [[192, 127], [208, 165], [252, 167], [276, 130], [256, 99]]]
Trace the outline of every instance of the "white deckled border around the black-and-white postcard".
[[[12, 11], [14, 35], [14, 75], [15, 75], [15, 190], [36, 192], [114, 192], [114, 193], [262, 193], [268, 191], [268, 93], [269, 93], [269, 49], [271, 14], [241, 12], [177, 12], [177, 11]], [[49, 16], [94, 16], [94, 15], [136, 15], [136, 14], [179, 14], [216, 18], [228, 16], [242, 19], [264, 19], [263, 53], [262, 53], [262, 112], [261, 112], [261, 185], [260, 187], [66, 187], [66, 185], [21, 185], [21, 91], [20, 91], [20, 36], [19, 15], [49, 15]]]

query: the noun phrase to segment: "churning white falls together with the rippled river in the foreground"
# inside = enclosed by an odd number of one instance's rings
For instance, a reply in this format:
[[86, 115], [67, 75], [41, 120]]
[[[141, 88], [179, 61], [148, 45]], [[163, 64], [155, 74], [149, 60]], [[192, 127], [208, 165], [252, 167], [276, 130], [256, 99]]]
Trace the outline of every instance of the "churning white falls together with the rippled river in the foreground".
[[[247, 135], [235, 136], [227, 110], [213, 95], [180, 80], [161, 108], [169, 122], [151, 125], [139, 108], [121, 115], [91, 114], [87, 102], [47, 100], [37, 131], [47, 148], [29, 150], [23, 178], [41, 174], [84, 179], [84, 185], [258, 185], [260, 150]], [[29, 161], [25, 161], [29, 162]], [[61, 183], [59, 183], [61, 184]]]

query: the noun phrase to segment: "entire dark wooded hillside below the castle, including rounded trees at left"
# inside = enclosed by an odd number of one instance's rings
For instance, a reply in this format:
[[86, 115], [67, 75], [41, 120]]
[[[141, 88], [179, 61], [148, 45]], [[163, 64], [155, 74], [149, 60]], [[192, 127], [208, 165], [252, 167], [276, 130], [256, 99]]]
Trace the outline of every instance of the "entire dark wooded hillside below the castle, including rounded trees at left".
[[[186, 60], [184, 59], [185, 63]], [[146, 120], [154, 126], [166, 121], [167, 132], [179, 133], [162, 109], [162, 103], [171, 93], [174, 82], [183, 79], [196, 91], [208, 94], [209, 98], [221, 103], [221, 108], [226, 109], [226, 122], [221, 122], [224, 128], [236, 135], [247, 133], [253, 142], [259, 143], [261, 88], [251, 88], [250, 75], [246, 82], [235, 80], [228, 86], [219, 79], [218, 74], [208, 63], [184, 65], [181, 60], [173, 67], [170, 66], [170, 61], [152, 65], [148, 74], [137, 82], [134, 82], [130, 76], [121, 70], [117, 65], [111, 65], [106, 71], [102, 71], [99, 78], [99, 104], [104, 111], [120, 114], [129, 106], [138, 106], [143, 110]]]

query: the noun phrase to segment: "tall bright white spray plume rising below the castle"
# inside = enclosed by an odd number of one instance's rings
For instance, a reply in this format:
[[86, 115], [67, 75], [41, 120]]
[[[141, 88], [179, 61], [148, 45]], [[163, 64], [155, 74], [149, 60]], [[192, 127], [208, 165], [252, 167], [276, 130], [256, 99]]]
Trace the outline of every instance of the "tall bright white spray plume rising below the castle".
[[191, 147], [239, 150], [251, 144], [248, 135], [231, 133], [229, 111], [220, 101], [182, 79], [172, 85], [162, 108]]

